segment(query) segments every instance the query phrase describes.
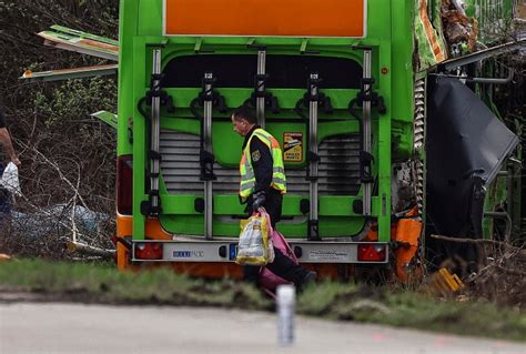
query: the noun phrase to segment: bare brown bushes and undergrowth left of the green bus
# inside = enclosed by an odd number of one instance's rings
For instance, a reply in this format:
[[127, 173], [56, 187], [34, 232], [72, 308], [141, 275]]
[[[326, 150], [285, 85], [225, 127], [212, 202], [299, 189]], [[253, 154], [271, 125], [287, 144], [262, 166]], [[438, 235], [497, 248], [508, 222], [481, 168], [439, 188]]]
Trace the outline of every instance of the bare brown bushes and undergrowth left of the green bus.
[[[118, 16], [119, 0], [0, 1], [0, 104], [22, 161], [19, 173], [27, 196], [17, 201], [17, 211], [33, 213], [74, 200], [90, 210], [114, 213], [115, 134], [90, 114], [117, 112], [115, 78], [30, 84], [18, 78], [26, 70], [108, 63], [47, 47], [36, 33], [60, 24], [117, 39]], [[108, 246], [113, 230], [114, 224], [104, 225], [105, 236], [94, 235], [90, 243]]]

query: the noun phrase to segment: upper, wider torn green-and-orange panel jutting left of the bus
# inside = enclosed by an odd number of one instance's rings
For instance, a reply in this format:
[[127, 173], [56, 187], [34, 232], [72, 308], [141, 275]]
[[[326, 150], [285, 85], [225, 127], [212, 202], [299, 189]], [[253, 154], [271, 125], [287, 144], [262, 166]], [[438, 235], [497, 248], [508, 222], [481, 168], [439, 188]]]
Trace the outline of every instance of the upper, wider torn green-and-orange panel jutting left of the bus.
[[119, 45], [115, 41], [63, 27], [52, 27], [37, 33], [45, 45], [74, 51], [82, 54], [119, 61]]

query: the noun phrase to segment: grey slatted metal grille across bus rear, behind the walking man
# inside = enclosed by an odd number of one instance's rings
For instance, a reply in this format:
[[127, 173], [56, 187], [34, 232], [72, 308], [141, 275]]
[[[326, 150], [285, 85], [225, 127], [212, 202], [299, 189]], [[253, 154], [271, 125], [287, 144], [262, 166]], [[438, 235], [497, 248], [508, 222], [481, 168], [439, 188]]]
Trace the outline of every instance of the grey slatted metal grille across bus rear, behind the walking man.
[[[161, 173], [170, 194], [203, 194], [199, 150], [199, 135], [161, 131]], [[360, 136], [345, 134], [325, 139], [320, 144], [318, 154], [320, 195], [356, 195], [361, 188]], [[215, 163], [214, 173], [218, 175], [213, 183], [214, 193], [236, 193], [240, 183], [237, 169]], [[287, 193], [308, 194], [305, 170], [287, 169], [286, 185]]]

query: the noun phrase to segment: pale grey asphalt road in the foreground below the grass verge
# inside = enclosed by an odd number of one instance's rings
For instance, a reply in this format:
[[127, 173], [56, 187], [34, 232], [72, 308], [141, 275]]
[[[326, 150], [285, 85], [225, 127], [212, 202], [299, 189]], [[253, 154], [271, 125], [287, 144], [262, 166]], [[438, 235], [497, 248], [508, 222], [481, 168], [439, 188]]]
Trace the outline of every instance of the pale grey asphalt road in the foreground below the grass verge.
[[526, 343], [296, 317], [291, 347], [276, 317], [221, 309], [0, 304], [0, 353], [526, 354]]

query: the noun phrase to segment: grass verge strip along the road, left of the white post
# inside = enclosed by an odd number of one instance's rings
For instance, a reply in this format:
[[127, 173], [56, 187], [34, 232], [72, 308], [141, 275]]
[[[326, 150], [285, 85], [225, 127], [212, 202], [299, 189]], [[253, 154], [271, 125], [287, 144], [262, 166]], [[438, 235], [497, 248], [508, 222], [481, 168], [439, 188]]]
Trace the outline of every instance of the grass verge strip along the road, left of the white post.
[[231, 280], [193, 280], [168, 269], [119, 273], [113, 264], [24, 260], [0, 264], [0, 284], [85, 302], [272, 307], [272, 303], [250, 285]]

